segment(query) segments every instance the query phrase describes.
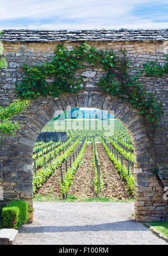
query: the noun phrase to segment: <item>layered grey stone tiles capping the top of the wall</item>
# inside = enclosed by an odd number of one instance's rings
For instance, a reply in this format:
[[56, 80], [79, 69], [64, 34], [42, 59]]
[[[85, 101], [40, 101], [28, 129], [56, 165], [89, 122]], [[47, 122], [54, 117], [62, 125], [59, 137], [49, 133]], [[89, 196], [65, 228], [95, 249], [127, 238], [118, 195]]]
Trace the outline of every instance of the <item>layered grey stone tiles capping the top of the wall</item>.
[[120, 29], [120, 30], [2, 30], [2, 41], [137, 41], [168, 40], [168, 29]]

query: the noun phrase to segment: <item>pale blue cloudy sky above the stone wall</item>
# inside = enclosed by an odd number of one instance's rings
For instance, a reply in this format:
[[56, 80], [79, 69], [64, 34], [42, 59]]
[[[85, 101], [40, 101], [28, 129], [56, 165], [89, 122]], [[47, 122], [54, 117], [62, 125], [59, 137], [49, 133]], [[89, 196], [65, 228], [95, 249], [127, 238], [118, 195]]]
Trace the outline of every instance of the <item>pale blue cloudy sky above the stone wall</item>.
[[0, 29], [167, 29], [168, 0], [0, 0]]

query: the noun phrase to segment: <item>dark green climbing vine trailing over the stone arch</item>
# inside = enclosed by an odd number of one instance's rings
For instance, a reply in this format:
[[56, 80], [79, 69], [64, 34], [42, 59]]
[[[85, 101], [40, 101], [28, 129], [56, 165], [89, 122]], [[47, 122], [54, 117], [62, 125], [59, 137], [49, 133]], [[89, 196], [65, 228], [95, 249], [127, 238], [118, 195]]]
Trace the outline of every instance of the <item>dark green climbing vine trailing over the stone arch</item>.
[[[156, 151], [154, 137], [156, 129], [159, 129], [162, 106], [158, 103], [157, 97], [152, 92], [146, 92], [143, 85], [138, 82], [138, 76], [163, 76], [168, 73], [168, 58], [166, 55], [165, 66], [160, 66], [157, 62], [147, 62], [140, 72], [135, 69], [135, 75], [130, 76], [128, 67], [131, 66], [124, 50], [120, 50], [120, 57], [117, 57], [113, 50], [97, 50], [83, 43], [68, 51], [66, 47], [58, 45], [55, 50], [55, 57], [51, 62], [41, 66], [22, 67], [25, 76], [21, 83], [17, 83], [16, 90], [21, 99], [36, 99], [38, 96], [59, 97], [61, 94], [77, 94], [78, 90], [85, 87], [85, 81], [81, 74], [86, 68], [83, 64], [87, 62], [93, 67], [104, 69], [106, 76], [101, 77], [97, 86], [111, 96], [117, 96], [122, 100], [127, 100], [133, 108], [143, 118], [144, 127], [149, 138], [154, 164], [153, 172], [162, 190], [164, 185], [158, 176]], [[46, 78], [54, 77], [54, 82], [48, 84]]]

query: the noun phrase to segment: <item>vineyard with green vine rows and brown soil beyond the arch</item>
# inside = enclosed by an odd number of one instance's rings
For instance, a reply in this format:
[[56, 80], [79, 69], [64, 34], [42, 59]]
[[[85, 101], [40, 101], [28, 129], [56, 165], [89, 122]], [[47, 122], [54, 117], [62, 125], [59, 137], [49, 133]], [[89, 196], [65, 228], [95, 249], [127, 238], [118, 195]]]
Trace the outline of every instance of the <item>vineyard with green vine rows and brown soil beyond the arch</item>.
[[[51, 124], [49, 124], [51, 127]], [[58, 199], [134, 195], [134, 152], [129, 133], [115, 120], [114, 133], [67, 131], [66, 141], [37, 142], [33, 152], [34, 196]]]

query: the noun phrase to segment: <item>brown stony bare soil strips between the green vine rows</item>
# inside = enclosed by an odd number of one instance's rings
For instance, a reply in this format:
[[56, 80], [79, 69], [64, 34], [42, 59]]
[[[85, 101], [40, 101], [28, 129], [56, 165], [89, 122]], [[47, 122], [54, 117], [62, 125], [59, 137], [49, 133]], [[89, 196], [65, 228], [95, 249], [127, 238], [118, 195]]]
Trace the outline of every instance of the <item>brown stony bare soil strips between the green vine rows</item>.
[[[96, 143], [97, 152], [99, 155], [102, 180], [104, 181], [104, 188], [102, 188], [101, 198], [116, 198], [129, 199], [130, 194], [127, 192], [124, 181], [115, 170], [113, 163], [109, 160], [104, 147], [101, 143]], [[73, 151], [75, 152], [75, 150]], [[72, 153], [73, 154], [73, 153]], [[69, 158], [68, 158], [69, 166]], [[66, 172], [63, 164], [63, 174]], [[77, 201], [86, 198], [96, 198], [94, 192], [94, 165], [93, 165], [93, 147], [92, 143], [87, 143], [85, 155], [74, 175], [73, 184], [69, 189], [68, 195], [75, 196]], [[49, 196], [53, 198], [62, 198], [60, 193], [60, 170], [55, 170], [51, 176], [41, 187], [36, 196]]]

